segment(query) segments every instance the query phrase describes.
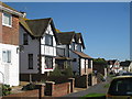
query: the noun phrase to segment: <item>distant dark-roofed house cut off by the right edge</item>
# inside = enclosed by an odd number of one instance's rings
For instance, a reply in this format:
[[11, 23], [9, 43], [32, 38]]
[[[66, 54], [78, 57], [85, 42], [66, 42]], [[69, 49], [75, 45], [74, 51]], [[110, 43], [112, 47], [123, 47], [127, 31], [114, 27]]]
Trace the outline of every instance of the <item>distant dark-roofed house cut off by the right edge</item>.
[[131, 61], [121, 62], [120, 67], [122, 67], [123, 70], [132, 72], [132, 62]]

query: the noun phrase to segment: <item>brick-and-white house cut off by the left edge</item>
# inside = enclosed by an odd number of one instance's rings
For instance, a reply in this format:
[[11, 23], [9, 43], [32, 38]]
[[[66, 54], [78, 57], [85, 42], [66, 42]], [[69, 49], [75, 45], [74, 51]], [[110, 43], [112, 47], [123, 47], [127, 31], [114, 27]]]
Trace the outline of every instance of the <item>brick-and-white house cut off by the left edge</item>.
[[0, 2], [0, 82], [19, 85], [19, 18], [23, 14]]

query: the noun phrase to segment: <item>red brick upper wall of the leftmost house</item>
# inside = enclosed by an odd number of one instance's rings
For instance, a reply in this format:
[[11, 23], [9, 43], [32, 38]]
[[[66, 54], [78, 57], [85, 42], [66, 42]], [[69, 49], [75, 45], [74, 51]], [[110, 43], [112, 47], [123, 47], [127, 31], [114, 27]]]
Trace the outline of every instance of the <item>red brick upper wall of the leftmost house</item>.
[[12, 28], [2, 25], [1, 43], [19, 45], [19, 18], [18, 16], [12, 15]]

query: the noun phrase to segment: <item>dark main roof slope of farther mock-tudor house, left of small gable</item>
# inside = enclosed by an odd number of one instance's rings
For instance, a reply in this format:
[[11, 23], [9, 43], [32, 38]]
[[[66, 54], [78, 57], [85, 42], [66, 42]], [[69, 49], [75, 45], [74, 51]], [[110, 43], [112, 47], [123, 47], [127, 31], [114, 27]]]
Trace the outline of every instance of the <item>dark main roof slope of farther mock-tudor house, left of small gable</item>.
[[56, 33], [58, 44], [70, 44], [74, 38], [75, 32], [61, 32]]

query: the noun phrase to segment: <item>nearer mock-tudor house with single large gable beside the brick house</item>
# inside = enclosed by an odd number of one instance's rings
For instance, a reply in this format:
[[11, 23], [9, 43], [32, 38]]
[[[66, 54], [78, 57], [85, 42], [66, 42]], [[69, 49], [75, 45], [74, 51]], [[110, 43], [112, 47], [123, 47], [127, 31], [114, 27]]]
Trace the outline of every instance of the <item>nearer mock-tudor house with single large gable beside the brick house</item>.
[[41, 80], [55, 68], [56, 35], [52, 18], [20, 19], [21, 80]]

